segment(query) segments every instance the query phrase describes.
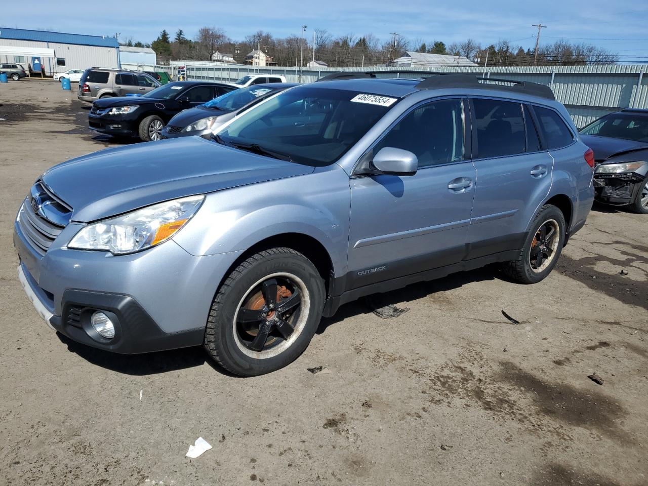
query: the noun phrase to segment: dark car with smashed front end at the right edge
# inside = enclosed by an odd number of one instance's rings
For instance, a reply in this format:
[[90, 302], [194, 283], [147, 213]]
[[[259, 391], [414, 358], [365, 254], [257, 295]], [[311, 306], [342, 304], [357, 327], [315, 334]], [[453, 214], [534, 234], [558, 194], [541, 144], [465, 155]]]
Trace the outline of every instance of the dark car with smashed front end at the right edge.
[[648, 214], [648, 110], [610, 113], [581, 129], [594, 150], [594, 189], [599, 202]]

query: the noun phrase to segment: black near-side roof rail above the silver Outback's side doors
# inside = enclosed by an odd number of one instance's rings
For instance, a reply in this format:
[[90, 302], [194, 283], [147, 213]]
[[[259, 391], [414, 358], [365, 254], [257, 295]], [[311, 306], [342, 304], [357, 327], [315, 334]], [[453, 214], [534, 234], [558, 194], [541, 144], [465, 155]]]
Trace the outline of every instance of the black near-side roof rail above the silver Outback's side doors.
[[[482, 81], [482, 82], [480, 82]], [[495, 83], [511, 83], [513, 86], [505, 86]], [[540, 98], [555, 100], [553, 91], [544, 84], [531, 83], [528, 81], [516, 81], [513, 79], [484, 78], [471, 74], [446, 74], [444, 76], [433, 76], [425, 78], [416, 85], [418, 89], [443, 89], [453, 87], [472, 87], [476, 89], [496, 89], [498, 91], [515, 91]]]

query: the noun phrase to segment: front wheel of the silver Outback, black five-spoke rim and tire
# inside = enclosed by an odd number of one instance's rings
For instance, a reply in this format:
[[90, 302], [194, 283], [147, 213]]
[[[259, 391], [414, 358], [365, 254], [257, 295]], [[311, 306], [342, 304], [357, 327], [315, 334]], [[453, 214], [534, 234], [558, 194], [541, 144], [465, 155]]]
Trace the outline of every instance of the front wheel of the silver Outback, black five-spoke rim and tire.
[[290, 248], [260, 251], [238, 265], [218, 289], [204, 347], [235, 375], [271, 373], [308, 347], [324, 299], [323, 279], [304, 255]]

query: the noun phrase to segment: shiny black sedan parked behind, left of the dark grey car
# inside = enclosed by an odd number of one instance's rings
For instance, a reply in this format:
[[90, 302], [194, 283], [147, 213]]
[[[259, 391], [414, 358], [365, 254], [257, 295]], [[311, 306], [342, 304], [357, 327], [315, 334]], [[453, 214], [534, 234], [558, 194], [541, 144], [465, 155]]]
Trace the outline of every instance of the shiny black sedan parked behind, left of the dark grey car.
[[235, 89], [224, 83], [178, 81], [141, 97], [102, 98], [93, 102], [88, 124], [91, 130], [109, 135], [135, 136], [145, 142], [159, 140], [174, 115]]

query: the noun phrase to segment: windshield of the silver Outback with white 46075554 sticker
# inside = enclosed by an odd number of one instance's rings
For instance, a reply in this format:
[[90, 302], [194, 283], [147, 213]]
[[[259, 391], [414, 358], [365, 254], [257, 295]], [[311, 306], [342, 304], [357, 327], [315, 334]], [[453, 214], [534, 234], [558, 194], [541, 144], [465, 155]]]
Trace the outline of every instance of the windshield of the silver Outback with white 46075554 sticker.
[[360, 140], [397, 98], [356, 91], [298, 87], [249, 110], [214, 137], [306, 165], [330, 165]]

